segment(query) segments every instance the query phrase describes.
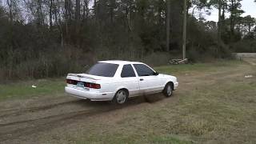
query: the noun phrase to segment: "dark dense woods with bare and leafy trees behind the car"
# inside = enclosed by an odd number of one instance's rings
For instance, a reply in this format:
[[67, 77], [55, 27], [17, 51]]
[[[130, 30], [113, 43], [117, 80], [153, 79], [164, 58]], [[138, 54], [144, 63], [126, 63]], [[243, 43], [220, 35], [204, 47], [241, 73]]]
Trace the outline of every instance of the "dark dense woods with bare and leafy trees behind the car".
[[[241, 2], [187, 1], [187, 58], [256, 52], [255, 18], [241, 16]], [[183, 6], [180, 0], [4, 0], [0, 78], [62, 76], [99, 59], [159, 65], [182, 58]], [[218, 23], [195, 16], [214, 7]]]

